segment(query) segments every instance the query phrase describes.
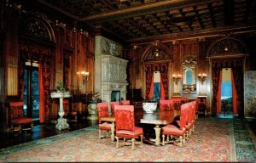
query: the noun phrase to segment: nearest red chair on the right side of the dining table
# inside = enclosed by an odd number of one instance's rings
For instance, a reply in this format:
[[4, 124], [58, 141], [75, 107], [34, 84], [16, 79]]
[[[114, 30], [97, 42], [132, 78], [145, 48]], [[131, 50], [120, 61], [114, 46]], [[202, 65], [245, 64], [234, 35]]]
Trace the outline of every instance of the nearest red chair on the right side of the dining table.
[[[174, 125], [166, 125], [162, 127], [162, 144], [165, 145], [165, 143], [175, 143], [175, 138], [178, 138], [177, 141], [180, 143], [179, 146], [182, 147], [182, 144], [185, 143], [185, 134], [186, 134], [186, 120], [187, 120], [187, 112], [188, 109], [187, 104], [181, 105], [181, 111], [180, 111], [180, 126], [174, 126]], [[165, 140], [165, 136], [170, 135], [173, 140], [167, 139]]]

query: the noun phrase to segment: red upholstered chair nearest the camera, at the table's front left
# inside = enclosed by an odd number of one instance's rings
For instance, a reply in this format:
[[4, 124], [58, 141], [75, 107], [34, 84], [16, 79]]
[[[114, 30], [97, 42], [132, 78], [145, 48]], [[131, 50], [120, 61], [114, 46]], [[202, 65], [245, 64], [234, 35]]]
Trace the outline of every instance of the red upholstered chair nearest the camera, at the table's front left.
[[135, 149], [135, 138], [140, 137], [143, 143], [143, 128], [135, 126], [134, 106], [133, 105], [115, 105], [115, 138], [116, 147], [119, 147], [119, 138], [131, 139], [131, 149]]

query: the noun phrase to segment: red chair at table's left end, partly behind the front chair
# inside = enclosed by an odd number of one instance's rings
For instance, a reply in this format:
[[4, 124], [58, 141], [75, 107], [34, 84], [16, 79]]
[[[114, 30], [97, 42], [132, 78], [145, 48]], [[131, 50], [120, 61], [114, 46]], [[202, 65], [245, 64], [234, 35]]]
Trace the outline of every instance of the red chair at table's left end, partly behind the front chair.
[[[99, 117], [99, 138], [108, 138], [109, 137], [109, 131], [111, 131], [110, 123], [106, 121], [102, 121], [103, 116], [108, 116], [108, 103], [98, 103], [97, 104], [98, 109], [98, 117]], [[102, 130], [107, 131], [107, 136], [102, 135]]]

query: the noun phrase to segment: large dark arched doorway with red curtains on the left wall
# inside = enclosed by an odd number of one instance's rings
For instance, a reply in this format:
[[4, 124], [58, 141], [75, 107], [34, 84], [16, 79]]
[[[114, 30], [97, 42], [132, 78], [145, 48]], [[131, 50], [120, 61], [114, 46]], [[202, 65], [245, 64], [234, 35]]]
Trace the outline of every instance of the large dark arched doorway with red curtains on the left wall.
[[[43, 15], [35, 14], [27, 15], [20, 21], [19, 46], [20, 97], [26, 105], [28, 116], [39, 115], [39, 122], [49, 122], [52, 118], [49, 114], [50, 73], [55, 66], [55, 33], [49, 20]], [[37, 72], [38, 76], [32, 76], [32, 71]], [[30, 78], [33, 78], [33, 81]], [[36, 110], [39, 113], [35, 113]]]

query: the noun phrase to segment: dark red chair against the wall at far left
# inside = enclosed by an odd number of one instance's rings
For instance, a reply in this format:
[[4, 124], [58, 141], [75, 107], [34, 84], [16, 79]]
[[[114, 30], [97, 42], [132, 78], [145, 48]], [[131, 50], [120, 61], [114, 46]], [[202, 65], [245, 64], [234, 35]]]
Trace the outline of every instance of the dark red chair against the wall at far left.
[[10, 102], [11, 131], [32, 130], [33, 120], [24, 115], [23, 102]]

